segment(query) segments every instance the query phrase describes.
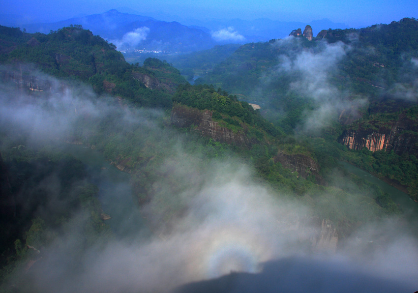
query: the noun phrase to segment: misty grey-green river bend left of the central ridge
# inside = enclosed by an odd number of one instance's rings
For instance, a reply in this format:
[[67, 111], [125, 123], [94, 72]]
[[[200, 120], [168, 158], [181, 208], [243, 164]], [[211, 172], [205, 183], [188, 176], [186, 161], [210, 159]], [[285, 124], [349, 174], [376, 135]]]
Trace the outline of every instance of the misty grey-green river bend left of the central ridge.
[[141, 216], [139, 205], [130, 185], [130, 175], [110, 165], [103, 155], [82, 145], [66, 145], [64, 151], [87, 166], [92, 183], [99, 188], [103, 211], [111, 216], [106, 220], [114, 234], [120, 238], [137, 239], [151, 232]]

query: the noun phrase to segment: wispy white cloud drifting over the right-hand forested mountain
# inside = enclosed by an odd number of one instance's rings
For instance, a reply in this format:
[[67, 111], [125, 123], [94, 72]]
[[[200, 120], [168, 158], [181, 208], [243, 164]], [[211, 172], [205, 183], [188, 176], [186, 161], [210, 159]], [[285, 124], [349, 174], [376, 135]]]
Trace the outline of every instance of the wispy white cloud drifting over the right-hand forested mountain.
[[[330, 77], [338, 70], [338, 63], [351, 51], [349, 45], [323, 41], [314, 48], [302, 48], [300, 39], [295, 37], [278, 40], [273, 45], [292, 48], [278, 56], [277, 73], [293, 76], [289, 90], [314, 102], [314, 109], [303, 115], [305, 118], [298, 126], [299, 131], [317, 134], [336, 121], [342, 111], [356, 115], [360, 108], [367, 105], [366, 97], [352, 99], [348, 91], [340, 90], [330, 82]], [[270, 82], [272, 78], [266, 80]]]

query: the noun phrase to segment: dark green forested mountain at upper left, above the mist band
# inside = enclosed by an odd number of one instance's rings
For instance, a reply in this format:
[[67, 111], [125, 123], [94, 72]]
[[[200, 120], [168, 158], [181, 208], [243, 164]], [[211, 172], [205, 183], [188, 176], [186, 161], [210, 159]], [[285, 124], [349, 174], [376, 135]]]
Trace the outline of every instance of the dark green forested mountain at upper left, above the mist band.
[[[138, 106], [170, 107], [171, 94], [186, 83], [177, 69], [157, 59], [144, 66], [128, 64], [115, 46], [80, 26], [50, 34], [1, 27], [1, 40], [3, 64], [31, 63], [47, 74], [86, 82], [98, 93], [120, 96]], [[16, 78], [23, 83], [30, 77], [10, 76]]]

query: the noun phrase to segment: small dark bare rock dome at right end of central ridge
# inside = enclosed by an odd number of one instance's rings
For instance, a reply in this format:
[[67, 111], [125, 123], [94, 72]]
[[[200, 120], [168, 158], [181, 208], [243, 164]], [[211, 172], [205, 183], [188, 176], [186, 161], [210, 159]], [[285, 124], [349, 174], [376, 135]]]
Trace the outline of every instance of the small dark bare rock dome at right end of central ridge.
[[311, 157], [304, 154], [286, 154], [279, 151], [274, 157], [274, 162], [281, 163], [285, 168], [298, 172], [299, 176], [315, 176], [319, 184], [325, 184], [324, 179], [319, 175], [319, 166]]

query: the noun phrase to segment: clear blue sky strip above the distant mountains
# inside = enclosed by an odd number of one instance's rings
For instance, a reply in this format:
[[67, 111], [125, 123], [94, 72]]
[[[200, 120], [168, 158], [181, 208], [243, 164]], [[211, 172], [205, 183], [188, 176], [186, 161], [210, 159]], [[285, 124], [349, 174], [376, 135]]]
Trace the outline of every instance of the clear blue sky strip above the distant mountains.
[[134, 14], [180, 22], [187, 18], [269, 18], [307, 23], [328, 18], [358, 28], [404, 17], [418, 18], [416, 0], [2, 0], [1, 6], [3, 18], [12, 14], [20, 17], [22, 24], [59, 21], [120, 7], [132, 9]]

